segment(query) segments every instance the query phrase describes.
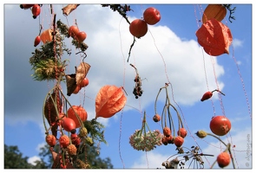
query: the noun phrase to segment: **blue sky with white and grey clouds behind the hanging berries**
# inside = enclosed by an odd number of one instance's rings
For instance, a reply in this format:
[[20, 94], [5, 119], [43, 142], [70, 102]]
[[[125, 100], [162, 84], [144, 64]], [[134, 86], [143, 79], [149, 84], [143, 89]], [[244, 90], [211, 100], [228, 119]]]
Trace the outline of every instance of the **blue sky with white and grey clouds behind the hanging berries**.
[[[161, 163], [176, 153], [174, 145], [161, 145], [154, 151], [135, 151], [128, 138], [141, 128], [141, 118], [147, 112], [150, 130], [161, 129], [161, 124], [154, 123], [154, 99], [159, 89], [170, 81], [168, 87], [171, 102], [181, 114], [188, 134], [184, 146], [190, 148], [199, 144], [204, 153], [220, 153], [220, 144], [213, 138], [194, 139], [198, 130], [209, 131], [209, 122], [213, 115], [223, 112], [232, 123], [232, 129], [226, 142], [236, 145], [234, 156], [238, 167], [251, 168], [252, 157], [247, 157], [247, 145], [253, 142], [252, 132], [252, 5], [233, 4], [236, 7], [233, 22], [226, 18], [222, 21], [232, 32], [233, 44], [230, 54], [212, 57], [205, 54], [197, 43], [195, 32], [199, 29], [200, 19], [206, 4], [133, 4], [128, 19], [141, 18], [150, 6], [161, 12], [161, 21], [148, 26], [147, 35], [135, 42], [130, 61], [127, 62], [128, 49], [133, 41], [128, 31], [128, 23], [117, 12], [100, 4], [83, 4], [69, 16], [62, 16], [64, 5], [54, 4], [56, 18], [71, 26], [75, 19], [80, 30], [88, 37], [84, 41], [89, 45], [86, 61], [91, 65], [89, 86], [80, 93], [69, 97], [73, 105], [83, 105], [89, 113], [89, 119], [95, 118], [95, 95], [104, 85], [124, 86], [128, 92], [127, 105], [123, 112], [118, 112], [110, 119], [98, 120], [105, 128], [108, 145], [101, 144], [101, 157], [110, 157], [114, 168], [155, 169], [164, 167]], [[24, 156], [35, 158], [38, 148], [45, 144], [43, 129], [43, 99], [54, 82], [36, 81], [30, 76], [29, 59], [34, 52], [34, 39], [39, 32], [39, 23], [43, 29], [50, 27], [49, 5], [44, 4], [40, 18], [33, 19], [30, 10], [22, 10], [19, 4], [4, 7], [4, 144], [17, 145]], [[63, 55], [69, 59], [67, 74], [74, 73], [74, 66], [82, 60], [70, 40], [65, 41], [72, 54]], [[42, 43], [41, 43], [42, 44]], [[204, 63], [205, 62], [205, 65]], [[144, 93], [135, 99], [132, 91], [135, 86], [137, 67], [142, 80]], [[205, 68], [204, 68], [205, 67]], [[205, 71], [206, 70], [206, 71]], [[206, 75], [207, 74], [207, 77]], [[206, 80], [207, 79], [207, 80]], [[201, 102], [203, 93], [220, 87], [225, 96]], [[62, 84], [63, 93], [66, 93]], [[165, 99], [161, 93], [158, 112], [162, 110]], [[247, 100], [246, 100], [247, 99]], [[211, 101], [212, 100], [212, 101]], [[175, 103], [178, 104], [175, 105]], [[249, 107], [248, 107], [249, 106]], [[249, 138], [249, 139], [248, 139]], [[205, 167], [213, 163], [215, 157], [208, 158]], [[246, 163], [248, 162], [248, 167]], [[232, 166], [230, 164], [230, 166]], [[216, 167], [218, 168], [218, 167]]]

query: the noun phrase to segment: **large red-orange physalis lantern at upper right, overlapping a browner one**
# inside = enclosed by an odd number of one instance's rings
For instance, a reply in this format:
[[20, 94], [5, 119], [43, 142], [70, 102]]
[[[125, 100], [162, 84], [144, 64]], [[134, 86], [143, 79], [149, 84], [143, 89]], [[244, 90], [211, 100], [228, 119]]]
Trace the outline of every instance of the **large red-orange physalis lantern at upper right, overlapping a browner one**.
[[228, 48], [233, 41], [230, 29], [212, 18], [202, 24], [195, 33], [197, 41], [207, 54], [218, 56], [229, 54]]

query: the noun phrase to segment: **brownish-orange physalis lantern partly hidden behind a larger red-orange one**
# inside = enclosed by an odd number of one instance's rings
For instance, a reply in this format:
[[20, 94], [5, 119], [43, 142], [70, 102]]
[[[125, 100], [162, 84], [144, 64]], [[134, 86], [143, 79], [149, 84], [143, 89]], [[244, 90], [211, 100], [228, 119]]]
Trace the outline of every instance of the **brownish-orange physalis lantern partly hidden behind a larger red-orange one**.
[[208, 4], [204, 14], [202, 16], [202, 22], [206, 23], [207, 20], [212, 18], [217, 21], [222, 21], [226, 16], [226, 7], [221, 4]]

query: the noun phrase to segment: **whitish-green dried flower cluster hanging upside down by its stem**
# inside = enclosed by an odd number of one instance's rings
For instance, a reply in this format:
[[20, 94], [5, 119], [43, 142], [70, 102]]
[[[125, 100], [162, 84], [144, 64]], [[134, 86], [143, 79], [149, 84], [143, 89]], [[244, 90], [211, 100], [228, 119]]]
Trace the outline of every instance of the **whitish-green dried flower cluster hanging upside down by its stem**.
[[136, 130], [129, 138], [129, 144], [137, 151], [152, 151], [155, 145], [161, 145], [163, 135], [159, 130], [148, 131], [146, 134]]

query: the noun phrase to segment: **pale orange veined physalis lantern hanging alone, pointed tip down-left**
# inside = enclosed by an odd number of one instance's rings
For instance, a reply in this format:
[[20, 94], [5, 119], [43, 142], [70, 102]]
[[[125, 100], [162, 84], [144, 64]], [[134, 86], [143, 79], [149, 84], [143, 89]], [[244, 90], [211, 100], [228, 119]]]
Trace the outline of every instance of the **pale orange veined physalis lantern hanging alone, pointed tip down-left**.
[[98, 117], [110, 118], [120, 112], [126, 104], [126, 96], [122, 87], [102, 86], [95, 99], [95, 119]]

